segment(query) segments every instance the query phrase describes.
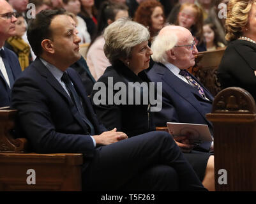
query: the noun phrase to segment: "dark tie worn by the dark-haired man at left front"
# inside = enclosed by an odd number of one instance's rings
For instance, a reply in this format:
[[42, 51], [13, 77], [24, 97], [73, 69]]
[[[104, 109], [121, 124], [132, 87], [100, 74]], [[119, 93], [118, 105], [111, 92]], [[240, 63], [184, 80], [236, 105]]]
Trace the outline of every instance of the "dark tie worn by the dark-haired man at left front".
[[87, 119], [79, 95], [77, 94], [77, 91], [75, 91], [75, 87], [73, 87], [70, 77], [68, 77], [68, 74], [66, 72], [63, 73], [61, 80], [66, 84], [66, 88], [68, 89], [68, 92], [70, 92], [70, 97], [72, 98], [73, 102], [75, 102], [75, 106], [77, 107], [77, 110], [80, 113], [82, 120], [87, 124], [87, 127], [89, 127], [91, 135], [95, 135], [93, 124], [91, 124], [91, 122]]

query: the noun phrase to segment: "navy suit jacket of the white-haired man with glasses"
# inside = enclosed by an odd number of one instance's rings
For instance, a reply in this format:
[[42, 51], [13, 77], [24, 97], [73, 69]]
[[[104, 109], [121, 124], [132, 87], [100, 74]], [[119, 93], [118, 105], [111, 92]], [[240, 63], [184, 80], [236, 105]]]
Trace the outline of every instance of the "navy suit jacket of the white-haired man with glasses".
[[[156, 126], [166, 126], [166, 122], [184, 122], [193, 124], [207, 124], [213, 134], [213, 125], [206, 119], [206, 113], [211, 112], [213, 96], [203, 87], [206, 97], [202, 98], [197, 89], [176, 77], [166, 66], [155, 63], [147, 73], [152, 82], [163, 84], [163, 107], [154, 113]], [[208, 144], [202, 148], [209, 148]]]

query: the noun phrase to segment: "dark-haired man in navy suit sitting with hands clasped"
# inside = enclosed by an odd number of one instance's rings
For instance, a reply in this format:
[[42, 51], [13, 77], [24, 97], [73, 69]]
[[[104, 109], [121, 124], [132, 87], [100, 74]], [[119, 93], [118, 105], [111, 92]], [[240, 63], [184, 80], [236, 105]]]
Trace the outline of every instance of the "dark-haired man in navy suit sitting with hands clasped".
[[96, 118], [79, 75], [77, 30], [63, 10], [41, 11], [27, 30], [38, 56], [12, 92], [20, 129], [33, 151], [81, 152], [82, 188], [95, 190], [205, 190], [168, 133], [129, 138]]

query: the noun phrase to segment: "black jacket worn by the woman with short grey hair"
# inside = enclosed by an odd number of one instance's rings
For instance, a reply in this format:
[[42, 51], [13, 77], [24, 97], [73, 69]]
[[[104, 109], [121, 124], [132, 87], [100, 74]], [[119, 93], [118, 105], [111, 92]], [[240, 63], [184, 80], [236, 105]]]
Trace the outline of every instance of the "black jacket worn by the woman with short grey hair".
[[[144, 71], [140, 72], [139, 75], [135, 75], [133, 71], [127, 68], [123, 62], [119, 62], [114, 66], [109, 66], [105, 73], [98, 79], [97, 82], [102, 82], [108, 89], [113, 90], [111, 85], [108, 85], [108, 78], [113, 78], [113, 84], [117, 82], [123, 82], [128, 87], [129, 82], [150, 82]], [[96, 83], [97, 83], [96, 82]], [[91, 99], [93, 99], [96, 90], [92, 92]], [[114, 90], [113, 96], [119, 91]], [[122, 91], [124, 92], [124, 91]], [[108, 95], [107, 95], [108, 96]], [[135, 95], [133, 95], [133, 105], [128, 105], [128, 98], [132, 95], [126, 91], [126, 105], [96, 105], [93, 99], [93, 108], [107, 129], [117, 128], [117, 131], [123, 131], [128, 136], [140, 135], [147, 133], [155, 129], [152, 112], [149, 112], [149, 107], [143, 105], [143, 91], [140, 92], [140, 104], [135, 105]], [[113, 101], [114, 102], [114, 101]], [[107, 104], [108, 101], [107, 101]]]

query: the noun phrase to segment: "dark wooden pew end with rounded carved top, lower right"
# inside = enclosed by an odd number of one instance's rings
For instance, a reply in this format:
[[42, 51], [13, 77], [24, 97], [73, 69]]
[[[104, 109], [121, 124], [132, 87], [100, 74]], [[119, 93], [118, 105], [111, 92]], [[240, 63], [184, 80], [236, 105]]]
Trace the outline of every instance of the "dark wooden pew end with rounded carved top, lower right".
[[238, 87], [223, 89], [206, 116], [214, 126], [216, 191], [256, 191], [256, 106], [251, 94]]

